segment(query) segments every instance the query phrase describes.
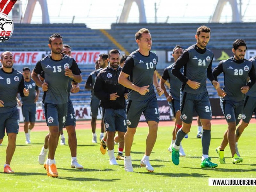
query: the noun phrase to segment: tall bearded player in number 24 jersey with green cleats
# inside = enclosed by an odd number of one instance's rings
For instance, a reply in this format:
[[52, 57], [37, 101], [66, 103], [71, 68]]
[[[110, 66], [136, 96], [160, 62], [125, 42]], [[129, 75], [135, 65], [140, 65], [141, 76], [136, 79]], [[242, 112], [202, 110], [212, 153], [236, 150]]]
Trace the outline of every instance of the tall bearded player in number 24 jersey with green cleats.
[[[203, 125], [202, 147], [203, 154], [201, 168], [214, 168], [218, 165], [212, 163], [208, 157], [211, 140], [211, 104], [206, 89], [206, 78], [208, 78], [215, 88], [219, 83], [214, 80], [212, 74], [213, 53], [206, 48], [210, 40], [210, 28], [201, 26], [197, 29], [196, 44], [183, 51], [174, 66], [172, 74], [182, 82], [180, 93], [181, 119], [183, 125], [177, 132], [175, 143], [172, 145], [172, 162], [179, 164], [180, 142], [190, 131], [193, 111], [196, 110]], [[183, 74], [180, 69], [184, 67]]]

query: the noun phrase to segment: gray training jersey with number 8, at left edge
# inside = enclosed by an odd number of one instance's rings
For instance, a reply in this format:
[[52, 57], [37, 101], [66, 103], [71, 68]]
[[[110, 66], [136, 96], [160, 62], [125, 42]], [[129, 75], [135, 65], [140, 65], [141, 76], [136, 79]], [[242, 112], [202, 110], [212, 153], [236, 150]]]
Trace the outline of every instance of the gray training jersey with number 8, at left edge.
[[0, 68], [0, 100], [4, 102], [4, 107], [0, 107], [0, 113], [17, 110], [16, 96], [19, 89], [22, 92], [20, 96], [24, 96], [21, 84], [24, 88], [24, 78], [20, 71], [12, 69], [11, 73], [6, 73]]

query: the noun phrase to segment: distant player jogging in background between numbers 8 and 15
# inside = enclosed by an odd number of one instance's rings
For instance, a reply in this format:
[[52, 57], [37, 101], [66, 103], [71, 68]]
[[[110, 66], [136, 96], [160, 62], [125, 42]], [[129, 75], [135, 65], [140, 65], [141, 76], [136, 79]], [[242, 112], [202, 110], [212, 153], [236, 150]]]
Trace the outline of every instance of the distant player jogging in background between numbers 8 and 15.
[[24, 132], [26, 136], [26, 144], [30, 144], [30, 131], [35, 126], [36, 121], [36, 101], [38, 101], [40, 91], [35, 82], [31, 79], [31, 72], [28, 67], [23, 68], [24, 84], [29, 90], [30, 94], [28, 97], [22, 97], [22, 115], [24, 118]]

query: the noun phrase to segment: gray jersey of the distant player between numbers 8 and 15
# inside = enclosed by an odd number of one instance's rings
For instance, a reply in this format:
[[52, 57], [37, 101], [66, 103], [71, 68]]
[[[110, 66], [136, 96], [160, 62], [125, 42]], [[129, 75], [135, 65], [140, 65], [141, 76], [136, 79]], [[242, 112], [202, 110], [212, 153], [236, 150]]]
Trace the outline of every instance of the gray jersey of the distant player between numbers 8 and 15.
[[22, 105], [31, 105], [35, 104], [35, 98], [36, 98], [36, 90], [38, 90], [38, 87], [36, 86], [35, 81], [33, 79], [30, 79], [29, 82], [24, 81], [25, 88], [29, 90], [28, 97], [22, 97]]

